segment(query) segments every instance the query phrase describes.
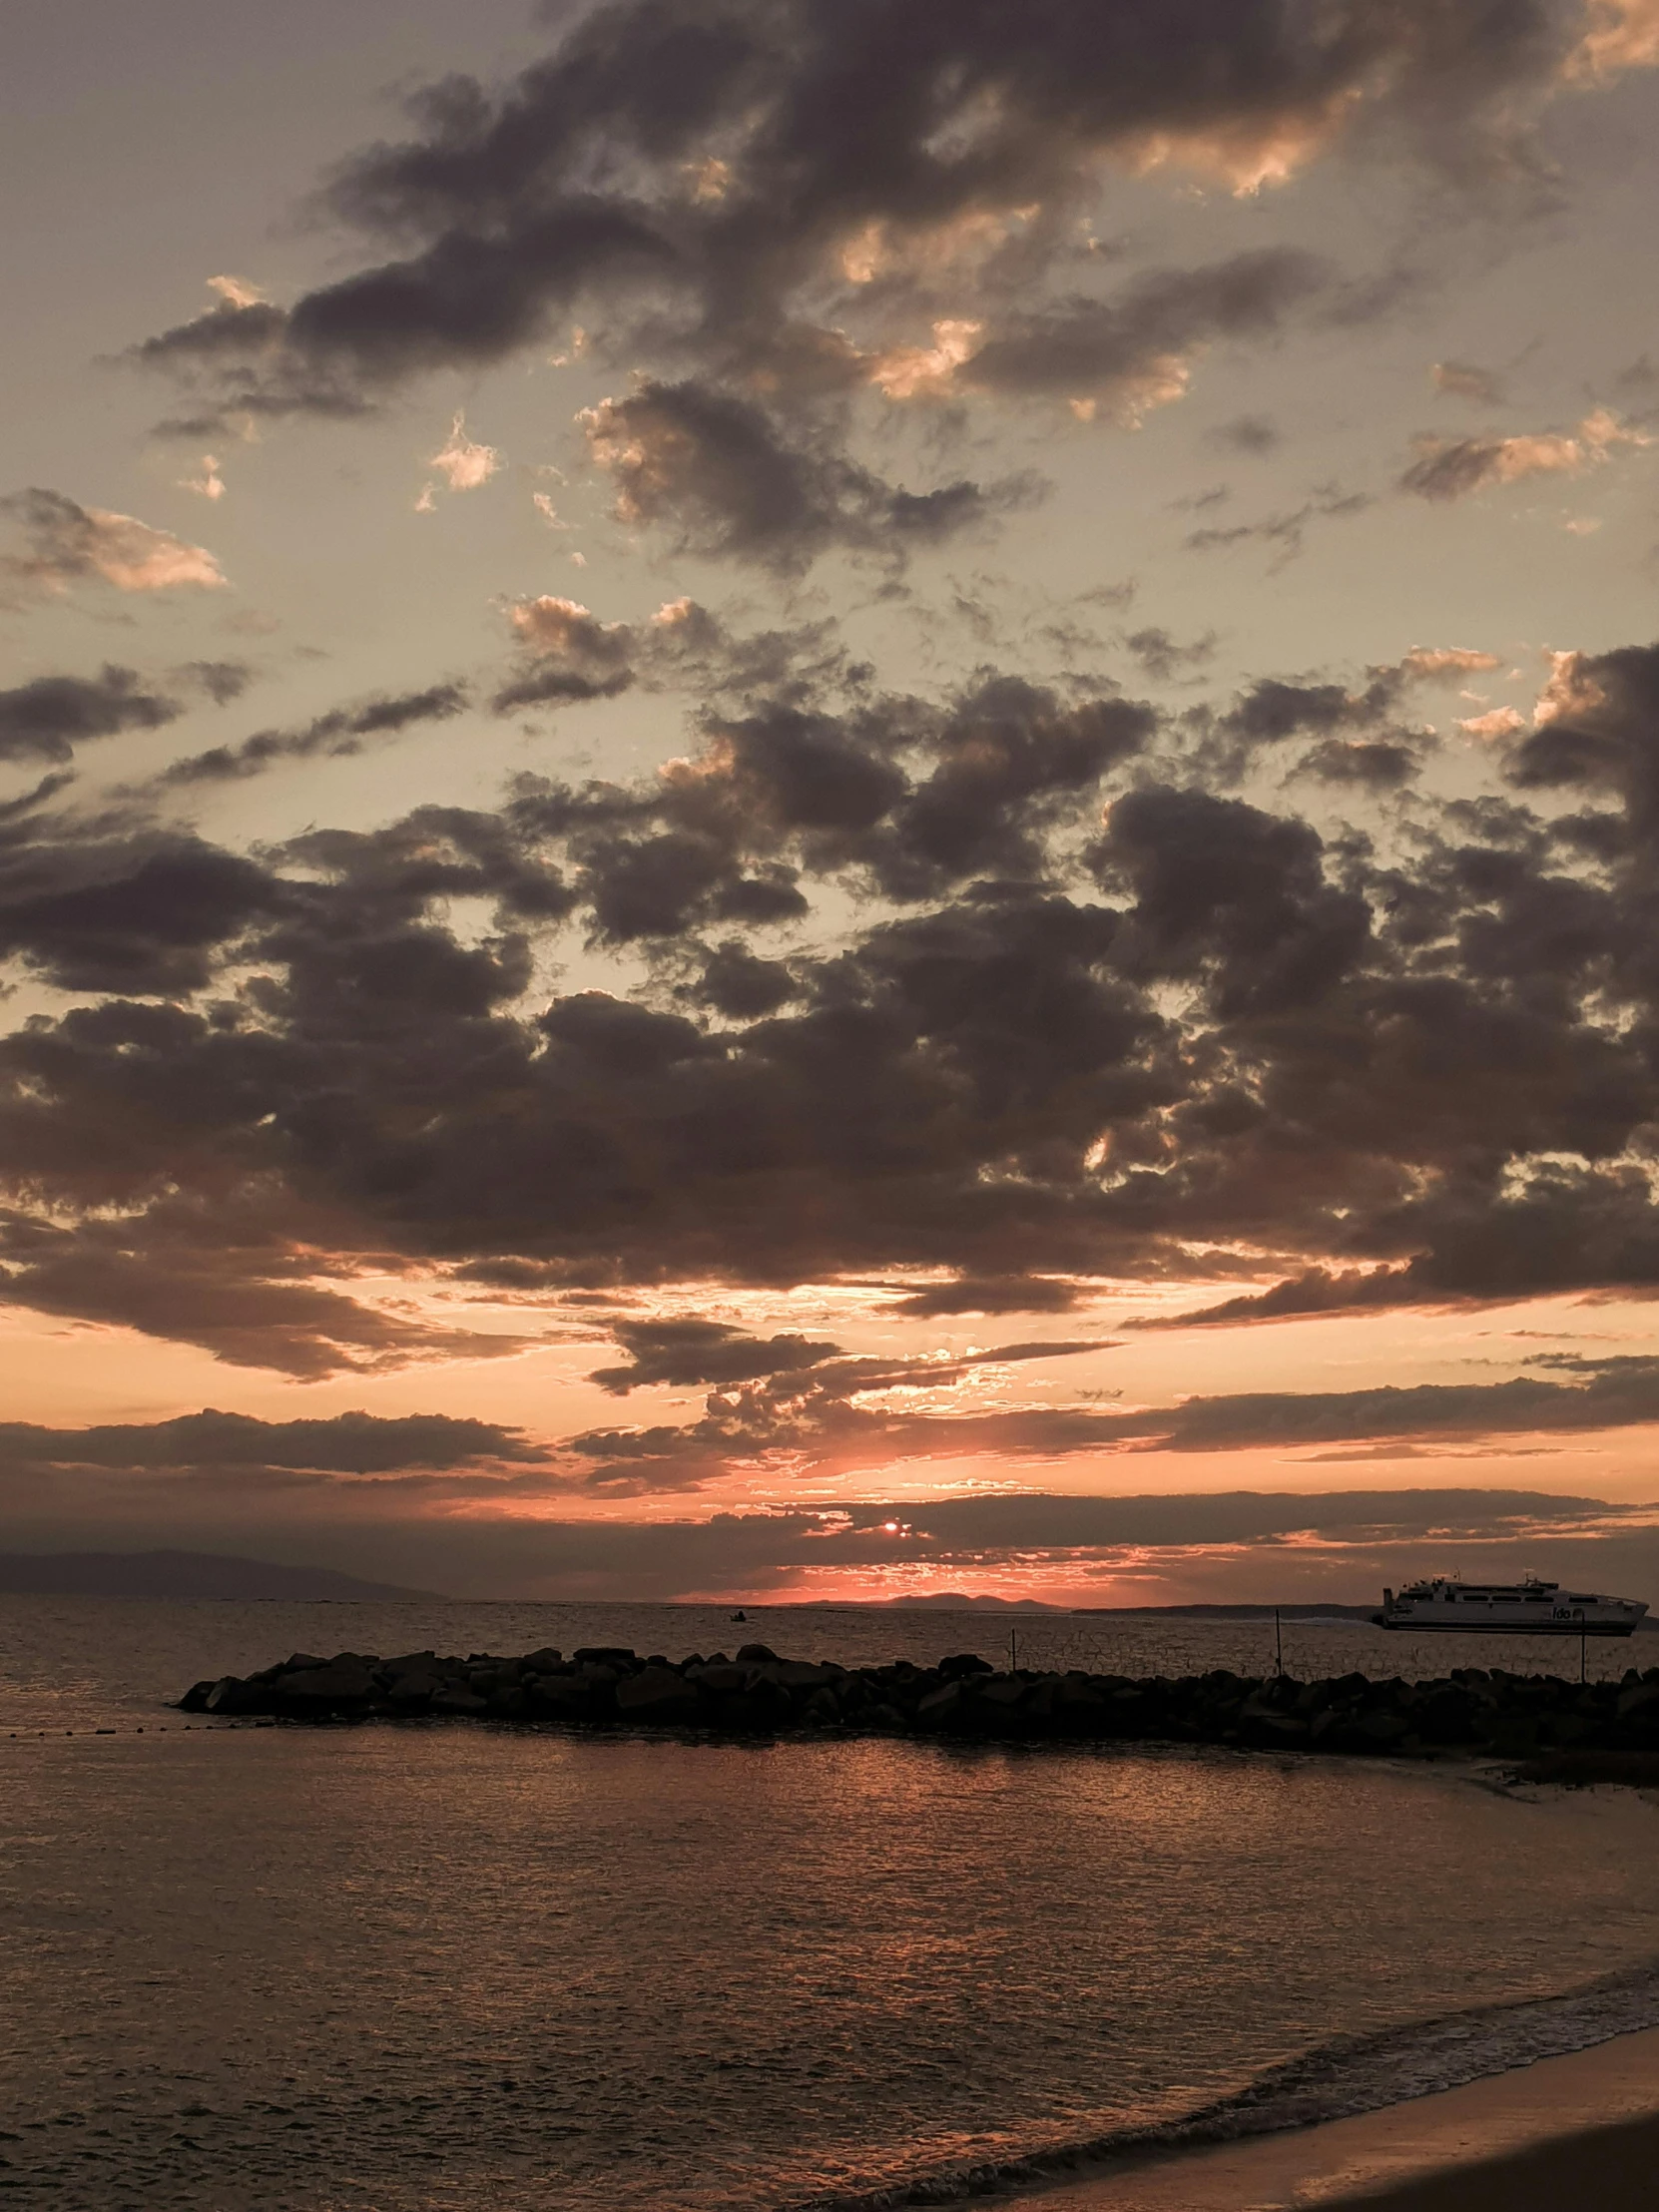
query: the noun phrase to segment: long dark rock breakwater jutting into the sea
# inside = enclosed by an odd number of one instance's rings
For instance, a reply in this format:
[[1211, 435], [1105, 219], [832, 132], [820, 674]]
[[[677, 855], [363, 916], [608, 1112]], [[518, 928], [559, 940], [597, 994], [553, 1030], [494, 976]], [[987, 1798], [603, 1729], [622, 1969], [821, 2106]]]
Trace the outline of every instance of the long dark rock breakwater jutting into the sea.
[[279, 1721], [478, 1719], [719, 1734], [920, 1734], [1000, 1741], [1217, 1743], [1243, 1750], [1429, 1759], [1551, 1752], [1659, 1754], [1659, 1668], [1621, 1681], [1453, 1668], [1433, 1681], [1338, 1674], [1296, 1681], [1217, 1670], [1186, 1677], [998, 1672], [973, 1652], [938, 1666], [843, 1668], [734, 1657], [641, 1659], [615, 1646], [568, 1657], [294, 1652], [257, 1674], [199, 1681], [179, 1710]]

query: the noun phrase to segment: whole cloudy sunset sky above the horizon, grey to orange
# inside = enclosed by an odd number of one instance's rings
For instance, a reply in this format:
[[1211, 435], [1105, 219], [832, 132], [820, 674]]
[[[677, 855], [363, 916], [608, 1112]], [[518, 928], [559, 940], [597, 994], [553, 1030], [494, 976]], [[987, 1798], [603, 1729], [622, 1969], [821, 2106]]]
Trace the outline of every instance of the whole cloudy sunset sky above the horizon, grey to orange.
[[1655, 0], [0, 117], [0, 1546], [1659, 1604]]

